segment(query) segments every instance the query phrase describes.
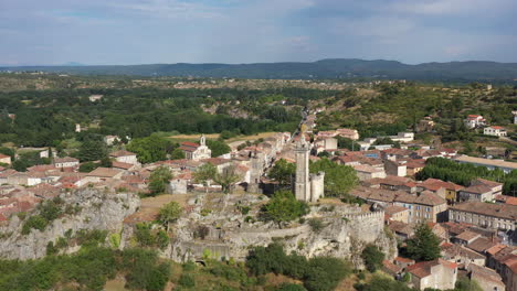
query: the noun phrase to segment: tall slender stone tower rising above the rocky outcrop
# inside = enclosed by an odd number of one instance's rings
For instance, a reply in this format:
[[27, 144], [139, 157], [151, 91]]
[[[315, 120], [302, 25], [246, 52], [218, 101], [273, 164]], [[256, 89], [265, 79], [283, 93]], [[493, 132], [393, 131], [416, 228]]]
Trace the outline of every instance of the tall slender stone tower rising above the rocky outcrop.
[[295, 196], [298, 201], [310, 201], [310, 182], [309, 182], [309, 152], [310, 144], [305, 140], [304, 131], [299, 134], [299, 141], [295, 147], [296, 155], [296, 182]]

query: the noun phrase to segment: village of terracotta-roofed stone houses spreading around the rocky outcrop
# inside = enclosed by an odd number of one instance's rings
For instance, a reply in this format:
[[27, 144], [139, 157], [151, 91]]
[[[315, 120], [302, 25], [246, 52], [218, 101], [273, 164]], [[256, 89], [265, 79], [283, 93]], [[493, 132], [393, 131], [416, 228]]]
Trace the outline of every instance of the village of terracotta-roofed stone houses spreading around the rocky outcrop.
[[[308, 165], [320, 159], [329, 159], [354, 168], [360, 183], [349, 194], [376, 207], [374, 211], [359, 211], [359, 214], [381, 214], [368, 219], [377, 219], [388, 227], [399, 244], [411, 239], [415, 227], [422, 223], [429, 225], [441, 240], [442, 258], [415, 262], [400, 256], [388, 257], [383, 261], [387, 273], [393, 278], [410, 273], [410, 284], [420, 290], [452, 289], [460, 272], [475, 279], [483, 290], [516, 290], [517, 198], [503, 195], [503, 183], [481, 177], [469, 181], [466, 186], [433, 177], [423, 181], [415, 179], [428, 160], [435, 158], [498, 169], [504, 173], [517, 170], [516, 163], [416, 144], [413, 132], [359, 141], [355, 129], [316, 131], [316, 114], [317, 110], [304, 112], [299, 130], [295, 133], [277, 132], [251, 146], [235, 143], [230, 153], [221, 157], [212, 157], [203, 134], [198, 142], [180, 143], [184, 159], [141, 164], [136, 153], [120, 149], [109, 153], [110, 168], [99, 166], [87, 173], [80, 172], [80, 160], [71, 157], [53, 158], [51, 164], [38, 164], [28, 168], [27, 172], [18, 172], [9, 166], [11, 157], [0, 154], [0, 163], [4, 165], [0, 166], [0, 220], [8, 223], [13, 215], [31, 212], [43, 201], [78, 188], [147, 193], [150, 175], [163, 166], [172, 173], [166, 190], [172, 196], [223, 191], [241, 195], [267, 194], [278, 187], [277, 181], [268, 177], [268, 172], [281, 160], [296, 164], [292, 185], [296, 198], [319, 205], [325, 198], [325, 172], [309, 173]], [[516, 112], [514, 115], [517, 121]], [[429, 119], [422, 122], [430, 126]], [[484, 133], [489, 136], [506, 136], [503, 128], [487, 126], [481, 116], [467, 116], [465, 126], [483, 128]], [[358, 148], [338, 149], [338, 138], [352, 140]], [[376, 140], [387, 138], [400, 147], [376, 143]], [[115, 136], [104, 138], [106, 146], [112, 146], [116, 140], [119, 138]], [[53, 149], [39, 151], [41, 158], [55, 157]], [[212, 179], [199, 181], [196, 173], [204, 164], [212, 165], [218, 173], [231, 171], [238, 179], [226, 188]], [[144, 217], [141, 212], [127, 220], [152, 219]], [[356, 214], [350, 217], [362, 219], [360, 217], [366, 216]], [[180, 249], [179, 245], [177, 247]], [[200, 249], [198, 255], [189, 256], [199, 257], [202, 251]], [[184, 259], [178, 256], [179, 260]]]

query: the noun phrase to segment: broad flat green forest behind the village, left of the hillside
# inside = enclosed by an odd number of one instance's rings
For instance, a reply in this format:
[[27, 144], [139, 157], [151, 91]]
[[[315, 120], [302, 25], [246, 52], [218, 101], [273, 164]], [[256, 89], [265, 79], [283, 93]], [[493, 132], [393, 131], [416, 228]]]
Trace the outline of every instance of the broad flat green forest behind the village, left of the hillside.
[[[0, 93], [0, 142], [56, 146], [87, 134], [141, 138], [154, 132], [252, 134], [292, 131], [308, 100], [333, 91], [284, 88], [247, 89], [50, 89]], [[88, 96], [103, 95], [91, 101]], [[285, 100], [279, 106], [275, 100]], [[267, 103], [270, 101], [270, 103]], [[203, 111], [214, 106], [215, 112]], [[240, 115], [231, 110], [241, 111]], [[9, 115], [15, 115], [10, 118]]]

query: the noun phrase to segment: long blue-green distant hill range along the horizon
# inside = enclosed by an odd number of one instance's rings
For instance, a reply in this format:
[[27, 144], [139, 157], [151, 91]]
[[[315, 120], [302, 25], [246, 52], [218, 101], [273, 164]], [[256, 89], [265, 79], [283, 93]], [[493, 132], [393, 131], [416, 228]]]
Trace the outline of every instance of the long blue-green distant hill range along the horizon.
[[517, 63], [450, 62], [408, 65], [395, 61], [357, 58], [321, 60], [313, 63], [256, 64], [149, 64], [128, 66], [23, 66], [0, 71], [43, 71], [85, 75], [194, 76], [235, 78], [389, 78], [420, 80], [514, 80]]

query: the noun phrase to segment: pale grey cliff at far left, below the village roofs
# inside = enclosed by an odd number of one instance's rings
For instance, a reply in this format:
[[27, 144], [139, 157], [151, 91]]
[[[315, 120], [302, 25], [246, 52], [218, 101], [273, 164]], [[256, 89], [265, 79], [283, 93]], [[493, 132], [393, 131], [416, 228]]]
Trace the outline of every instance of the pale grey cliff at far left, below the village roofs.
[[140, 205], [136, 194], [105, 193], [94, 188], [63, 193], [60, 197], [64, 200], [64, 205], [77, 205], [81, 211], [53, 220], [43, 231], [32, 229], [28, 235], [21, 234], [23, 222], [13, 216], [9, 225], [0, 227], [1, 258], [27, 260], [44, 257], [46, 244], [55, 242], [70, 229], [73, 233], [81, 229], [120, 231], [124, 218], [135, 213]]

